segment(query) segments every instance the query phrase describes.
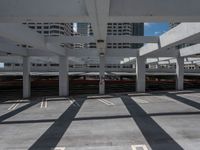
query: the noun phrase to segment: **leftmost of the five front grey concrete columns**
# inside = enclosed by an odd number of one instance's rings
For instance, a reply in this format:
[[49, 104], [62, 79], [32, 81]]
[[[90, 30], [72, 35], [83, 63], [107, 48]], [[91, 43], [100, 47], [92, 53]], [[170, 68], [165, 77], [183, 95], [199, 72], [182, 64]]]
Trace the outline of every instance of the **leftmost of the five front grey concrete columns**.
[[23, 98], [31, 96], [30, 57], [23, 57]]

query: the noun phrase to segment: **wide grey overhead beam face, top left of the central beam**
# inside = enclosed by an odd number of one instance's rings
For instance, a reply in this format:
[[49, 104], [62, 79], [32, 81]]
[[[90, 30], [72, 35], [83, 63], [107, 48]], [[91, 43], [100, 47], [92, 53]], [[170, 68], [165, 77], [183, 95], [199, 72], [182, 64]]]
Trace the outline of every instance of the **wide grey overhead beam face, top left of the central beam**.
[[80, 0], [1, 0], [0, 22], [77, 22], [87, 21], [84, 1]]

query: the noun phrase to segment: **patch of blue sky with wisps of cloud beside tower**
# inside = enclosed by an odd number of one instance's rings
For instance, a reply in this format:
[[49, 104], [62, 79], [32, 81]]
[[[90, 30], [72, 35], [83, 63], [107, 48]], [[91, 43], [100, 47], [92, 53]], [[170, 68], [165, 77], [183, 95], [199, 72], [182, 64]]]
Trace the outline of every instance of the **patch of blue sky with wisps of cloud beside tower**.
[[159, 36], [169, 30], [168, 23], [145, 23], [144, 35], [145, 36]]

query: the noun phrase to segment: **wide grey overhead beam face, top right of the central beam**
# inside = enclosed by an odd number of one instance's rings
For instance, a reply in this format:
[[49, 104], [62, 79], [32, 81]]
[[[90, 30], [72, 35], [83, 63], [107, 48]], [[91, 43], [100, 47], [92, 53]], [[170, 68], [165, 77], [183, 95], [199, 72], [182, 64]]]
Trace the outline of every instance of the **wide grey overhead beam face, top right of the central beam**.
[[191, 0], [189, 5], [188, 0], [111, 0], [110, 3], [110, 16], [119, 22], [200, 21], [199, 0]]

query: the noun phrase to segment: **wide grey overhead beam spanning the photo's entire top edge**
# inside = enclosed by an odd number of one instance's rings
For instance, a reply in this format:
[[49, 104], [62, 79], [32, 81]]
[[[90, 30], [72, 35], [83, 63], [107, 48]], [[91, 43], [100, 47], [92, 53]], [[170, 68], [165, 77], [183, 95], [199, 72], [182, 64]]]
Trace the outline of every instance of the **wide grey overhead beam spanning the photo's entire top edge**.
[[[107, 21], [199, 22], [199, 5], [199, 0], [110, 0]], [[94, 5], [89, 6], [94, 8]], [[1, 23], [92, 22], [89, 13], [93, 14], [87, 11], [83, 0], [1, 0], [0, 3]], [[104, 12], [100, 10], [100, 13]]]

